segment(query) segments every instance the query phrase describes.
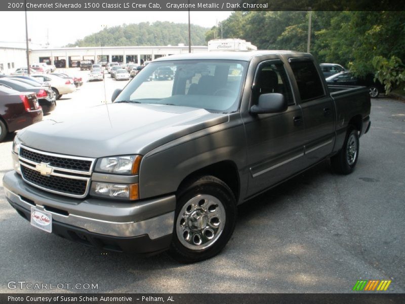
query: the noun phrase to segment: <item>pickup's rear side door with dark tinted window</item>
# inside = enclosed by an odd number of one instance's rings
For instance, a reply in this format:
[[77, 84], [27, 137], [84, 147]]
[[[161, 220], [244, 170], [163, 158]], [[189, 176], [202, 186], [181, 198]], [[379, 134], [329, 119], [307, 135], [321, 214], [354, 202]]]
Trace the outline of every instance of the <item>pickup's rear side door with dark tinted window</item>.
[[305, 165], [309, 166], [332, 152], [335, 142], [336, 109], [327, 94], [312, 58], [289, 59], [300, 97], [305, 122]]

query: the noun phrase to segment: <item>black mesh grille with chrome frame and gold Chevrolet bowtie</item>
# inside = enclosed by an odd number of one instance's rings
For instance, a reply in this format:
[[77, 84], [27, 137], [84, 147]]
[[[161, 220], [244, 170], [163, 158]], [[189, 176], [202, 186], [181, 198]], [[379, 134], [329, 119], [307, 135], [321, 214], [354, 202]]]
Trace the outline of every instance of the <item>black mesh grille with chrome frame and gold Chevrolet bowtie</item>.
[[21, 145], [19, 163], [24, 181], [44, 191], [75, 198], [84, 198], [89, 193], [95, 159], [48, 153]]

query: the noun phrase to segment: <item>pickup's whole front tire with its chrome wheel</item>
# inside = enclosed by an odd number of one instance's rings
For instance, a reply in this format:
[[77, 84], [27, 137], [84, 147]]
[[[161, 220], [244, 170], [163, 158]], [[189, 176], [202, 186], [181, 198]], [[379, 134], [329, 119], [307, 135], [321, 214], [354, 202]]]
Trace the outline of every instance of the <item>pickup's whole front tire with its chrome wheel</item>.
[[233, 233], [236, 212], [235, 197], [222, 180], [211, 175], [192, 180], [177, 195], [169, 255], [182, 263], [215, 256]]

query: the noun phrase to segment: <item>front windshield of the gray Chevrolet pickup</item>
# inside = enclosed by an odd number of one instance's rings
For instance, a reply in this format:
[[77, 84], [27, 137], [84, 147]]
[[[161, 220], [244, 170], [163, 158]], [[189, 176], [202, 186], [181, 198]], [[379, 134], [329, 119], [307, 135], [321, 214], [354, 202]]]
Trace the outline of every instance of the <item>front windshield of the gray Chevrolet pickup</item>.
[[[151, 62], [114, 102], [188, 106], [212, 112], [236, 111], [246, 67], [247, 62], [234, 60]], [[168, 70], [171, 72], [166, 73]]]

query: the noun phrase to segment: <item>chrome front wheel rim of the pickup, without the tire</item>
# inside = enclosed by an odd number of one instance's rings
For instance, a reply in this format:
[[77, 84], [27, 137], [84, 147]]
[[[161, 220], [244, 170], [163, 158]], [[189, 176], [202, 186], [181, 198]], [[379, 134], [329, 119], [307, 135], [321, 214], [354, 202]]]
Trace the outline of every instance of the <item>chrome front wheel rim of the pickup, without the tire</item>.
[[220, 237], [225, 220], [225, 209], [219, 199], [207, 194], [197, 195], [179, 212], [177, 238], [188, 249], [206, 249]]

